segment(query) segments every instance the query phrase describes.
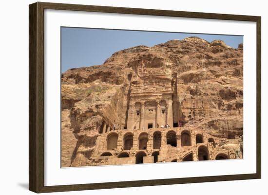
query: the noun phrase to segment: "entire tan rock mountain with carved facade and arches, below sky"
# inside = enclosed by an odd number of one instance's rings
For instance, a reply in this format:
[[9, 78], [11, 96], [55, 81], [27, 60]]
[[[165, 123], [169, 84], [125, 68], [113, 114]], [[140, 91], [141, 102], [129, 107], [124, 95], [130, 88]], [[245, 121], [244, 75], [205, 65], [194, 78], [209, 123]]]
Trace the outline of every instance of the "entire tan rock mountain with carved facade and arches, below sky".
[[243, 158], [243, 44], [137, 46], [61, 81], [62, 167]]

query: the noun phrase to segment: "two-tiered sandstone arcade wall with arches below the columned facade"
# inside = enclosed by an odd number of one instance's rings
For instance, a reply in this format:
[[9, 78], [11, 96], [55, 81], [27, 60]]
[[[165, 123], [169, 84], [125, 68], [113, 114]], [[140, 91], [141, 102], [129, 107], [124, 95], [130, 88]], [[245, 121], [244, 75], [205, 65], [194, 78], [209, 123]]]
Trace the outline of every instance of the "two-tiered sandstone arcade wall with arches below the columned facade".
[[217, 142], [219, 139], [208, 134], [179, 127], [117, 130], [98, 138], [98, 147], [92, 155], [96, 164], [82, 162], [82, 155], [77, 163], [111, 165], [236, 159], [233, 151], [217, 148]]

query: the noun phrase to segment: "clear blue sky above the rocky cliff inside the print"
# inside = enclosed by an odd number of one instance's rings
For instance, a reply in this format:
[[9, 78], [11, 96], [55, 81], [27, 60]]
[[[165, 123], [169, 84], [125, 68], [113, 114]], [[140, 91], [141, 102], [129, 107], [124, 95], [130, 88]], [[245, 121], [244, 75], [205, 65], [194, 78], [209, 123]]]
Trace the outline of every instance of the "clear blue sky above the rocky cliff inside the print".
[[113, 53], [138, 45], [152, 47], [171, 39], [199, 36], [212, 41], [221, 39], [237, 48], [243, 36], [124, 31], [61, 27], [61, 72], [71, 68], [100, 65]]

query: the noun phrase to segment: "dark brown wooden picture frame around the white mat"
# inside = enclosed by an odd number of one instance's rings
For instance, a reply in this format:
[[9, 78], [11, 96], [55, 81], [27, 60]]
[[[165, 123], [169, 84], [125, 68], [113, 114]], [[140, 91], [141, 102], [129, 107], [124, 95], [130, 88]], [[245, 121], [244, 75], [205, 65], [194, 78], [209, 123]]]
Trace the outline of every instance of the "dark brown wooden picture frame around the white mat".
[[[211, 177], [187, 177], [44, 186], [44, 10], [71, 10], [102, 13], [206, 18], [256, 22], [257, 35], [257, 110], [256, 110], [256, 173]], [[137, 9], [93, 5], [36, 2], [29, 5], [29, 190], [36, 193], [92, 190], [137, 186], [170, 185], [195, 182], [261, 178], [261, 17], [170, 10]]]

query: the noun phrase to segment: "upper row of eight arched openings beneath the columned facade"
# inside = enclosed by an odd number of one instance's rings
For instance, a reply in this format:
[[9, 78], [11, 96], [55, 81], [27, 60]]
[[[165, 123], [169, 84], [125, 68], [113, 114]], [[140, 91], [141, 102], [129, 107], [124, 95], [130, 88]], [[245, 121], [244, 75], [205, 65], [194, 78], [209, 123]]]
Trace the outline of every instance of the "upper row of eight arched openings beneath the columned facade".
[[[197, 134], [195, 136], [196, 143], [203, 143], [203, 136]], [[112, 132], [107, 137], [107, 150], [113, 150], [117, 147], [118, 134]], [[162, 134], [160, 131], [155, 131], [153, 133], [153, 149], [160, 149], [161, 147]], [[215, 146], [213, 138], [209, 139], [209, 142], [212, 142]], [[138, 137], [138, 149], [145, 150], [147, 149], [148, 143], [148, 133], [142, 132]], [[171, 130], [167, 133], [167, 144], [177, 147], [177, 138], [175, 131]], [[184, 130], [181, 133], [181, 146], [191, 146], [191, 133], [188, 130]], [[133, 147], [133, 133], [126, 133], [123, 137], [123, 147], [124, 150], [130, 150]]]

